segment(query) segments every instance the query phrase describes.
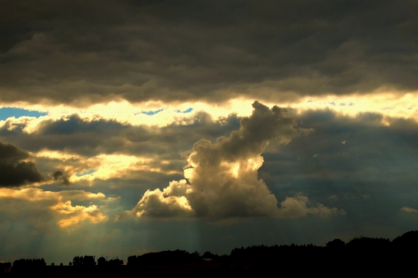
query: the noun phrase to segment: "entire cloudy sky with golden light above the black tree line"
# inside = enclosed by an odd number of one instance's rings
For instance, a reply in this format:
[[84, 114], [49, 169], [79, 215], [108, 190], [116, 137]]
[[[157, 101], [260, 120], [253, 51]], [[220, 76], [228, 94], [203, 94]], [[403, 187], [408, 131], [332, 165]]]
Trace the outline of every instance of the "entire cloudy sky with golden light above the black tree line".
[[0, 1], [0, 261], [418, 227], [417, 1]]

